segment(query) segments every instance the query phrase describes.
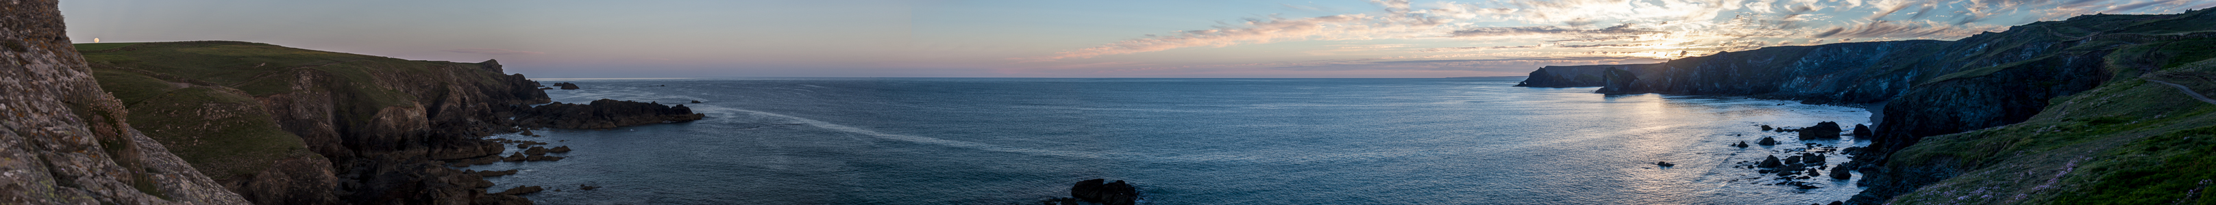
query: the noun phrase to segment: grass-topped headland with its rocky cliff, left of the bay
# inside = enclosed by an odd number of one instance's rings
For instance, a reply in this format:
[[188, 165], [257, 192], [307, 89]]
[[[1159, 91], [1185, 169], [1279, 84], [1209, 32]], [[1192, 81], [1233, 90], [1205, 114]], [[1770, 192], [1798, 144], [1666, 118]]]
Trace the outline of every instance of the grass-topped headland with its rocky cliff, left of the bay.
[[421, 62], [257, 42], [75, 44], [131, 121], [264, 205], [527, 203], [437, 159], [490, 157], [545, 104], [499, 62]]

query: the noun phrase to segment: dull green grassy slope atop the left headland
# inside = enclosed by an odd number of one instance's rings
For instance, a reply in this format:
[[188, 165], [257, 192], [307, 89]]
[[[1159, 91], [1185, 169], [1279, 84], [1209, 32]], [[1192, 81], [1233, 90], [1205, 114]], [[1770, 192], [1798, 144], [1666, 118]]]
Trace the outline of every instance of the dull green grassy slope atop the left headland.
[[[412, 62], [352, 53], [286, 48], [253, 42], [126, 42], [78, 44], [95, 79], [126, 104], [135, 128], [171, 152], [208, 172], [233, 179], [266, 170], [277, 159], [308, 157], [301, 139], [286, 132], [255, 99], [288, 93], [295, 71], [319, 71], [339, 82], [372, 82], [370, 68], [428, 68]], [[412, 95], [392, 88], [352, 86], [372, 106], [412, 106]], [[370, 110], [375, 108], [357, 108]], [[370, 117], [370, 115], [359, 115]]]

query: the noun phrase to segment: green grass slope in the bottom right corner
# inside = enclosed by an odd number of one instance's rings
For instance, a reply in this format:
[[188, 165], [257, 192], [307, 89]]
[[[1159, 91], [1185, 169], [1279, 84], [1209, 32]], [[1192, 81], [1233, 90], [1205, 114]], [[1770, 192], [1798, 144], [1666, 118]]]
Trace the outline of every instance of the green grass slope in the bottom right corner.
[[[2054, 99], [2030, 121], [1926, 137], [1897, 152], [1888, 168], [1952, 170], [1892, 203], [2030, 203], [2147, 205], [2176, 201], [2207, 179], [2216, 159], [2203, 143], [2181, 141], [2216, 126], [2216, 106], [2143, 79]], [[2172, 137], [2172, 139], [2165, 139]], [[2200, 176], [2200, 179], [2194, 179]], [[2145, 198], [2145, 201], [2121, 201]], [[2189, 203], [2189, 205], [2207, 205]]]

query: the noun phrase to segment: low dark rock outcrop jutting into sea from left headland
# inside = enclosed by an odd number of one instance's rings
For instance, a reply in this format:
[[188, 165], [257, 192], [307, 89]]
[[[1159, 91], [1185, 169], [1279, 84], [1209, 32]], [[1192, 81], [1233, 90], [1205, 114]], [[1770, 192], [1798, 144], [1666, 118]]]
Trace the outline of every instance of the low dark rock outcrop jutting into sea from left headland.
[[645, 104], [645, 101], [616, 101], [596, 99], [592, 104], [547, 104], [532, 106], [516, 112], [516, 123], [532, 128], [618, 128], [618, 126], [643, 126], [643, 123], [674, 123], [674, 121], [696, 121], [707, 115], [691, 112], [691, 108]]

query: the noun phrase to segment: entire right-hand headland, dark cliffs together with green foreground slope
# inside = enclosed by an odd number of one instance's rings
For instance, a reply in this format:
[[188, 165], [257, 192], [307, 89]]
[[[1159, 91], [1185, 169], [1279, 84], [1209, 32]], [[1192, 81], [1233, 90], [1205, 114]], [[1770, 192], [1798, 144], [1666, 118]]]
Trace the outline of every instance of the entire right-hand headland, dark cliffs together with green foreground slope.
[[[2079, 15], [1955, 42], [1771, 46], [1684, 57], [1618, 77], [1629, 82], [1611, 82], [1598, 93], [1744, 95], [1881, 110], [1875, 137], [1861, 137], [1873, 145], [1841, 165], [1868, 174], [1861, 185], [1870, 190], [1850, 201], [1857, 205], [2070, 203], [2103, 194], [2207, 203], [2200, 190], [2207, 183], [2192, 183], [2207, 181], [2212, 168], [2205, 165], [2216, 159], [2172, 154], [2209, 150], [2189, 137], [2216, 126], [2205, 117], [2216, 101], [2192, 99], [2216, 88], [2207, 68], [2216, 57], [2212, 46], [2212, 11]], [[2163, 90], [2167, 84], [2183, 90]], [[2141, 148], [2147, 141], [2178, 143]], [[2096, 161], [2169, 168], [2083, 170]], [[2174, 185], [2181, 181], [2185, 185]], [[2101, 185], [2125, 192], [2094, 190]], [[1981, 196], [1961, 196], [1970, 190]]]

